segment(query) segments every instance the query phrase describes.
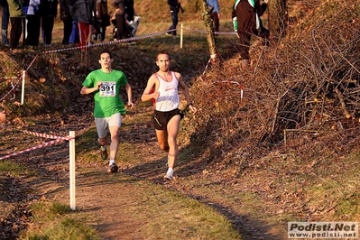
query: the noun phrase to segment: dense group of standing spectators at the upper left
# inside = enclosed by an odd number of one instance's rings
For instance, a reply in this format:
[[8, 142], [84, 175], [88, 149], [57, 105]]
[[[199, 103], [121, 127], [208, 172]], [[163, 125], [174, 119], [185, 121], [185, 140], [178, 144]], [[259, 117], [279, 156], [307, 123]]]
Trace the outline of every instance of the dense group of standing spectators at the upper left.
[[16, 51], [23, 35], [22, 47], [36, 48], [41, 43], [51, 46], [58, 5], [64, 45], [85, 47], [104, 41], [111, 23], [114, 40], [134, 36], [134, 27], [129, 23], [135, 19], [137, 24], [140, 22], [140, 16], [134, 12], [134, 0], [112, 0], [110, 4], [115, 7], [113, 13], [108, 12], [107, 0], [0, 0], [2, 44]]

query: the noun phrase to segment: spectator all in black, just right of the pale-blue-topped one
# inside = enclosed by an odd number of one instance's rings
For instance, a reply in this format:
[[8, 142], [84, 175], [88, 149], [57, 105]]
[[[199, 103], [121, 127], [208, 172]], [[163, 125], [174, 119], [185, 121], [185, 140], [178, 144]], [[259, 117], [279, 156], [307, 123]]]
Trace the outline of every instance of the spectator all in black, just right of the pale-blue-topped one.
[[54, 20], [58, 14], [58, 0], [41, 0], [40, 11], [42, 17], [42, 40], [45, 46], [50, 46]]

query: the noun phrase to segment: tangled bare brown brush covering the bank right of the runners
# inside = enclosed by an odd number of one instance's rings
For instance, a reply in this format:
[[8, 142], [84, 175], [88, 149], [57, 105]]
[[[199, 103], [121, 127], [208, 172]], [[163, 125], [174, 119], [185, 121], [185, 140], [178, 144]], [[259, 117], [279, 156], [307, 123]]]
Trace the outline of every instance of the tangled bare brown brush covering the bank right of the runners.
[[302, 143], [311, 138], [325, 145], [358, 138], [360, 5], [341, 3], [324, 3], [270, 47], [255, 41], [251, 69], [232, 59], [197, 79], [193, 140], [210, 146], [213, 159], [231, 150], [240, 152], [232, 158], [258, 159], [284, 146], [309, 152]]

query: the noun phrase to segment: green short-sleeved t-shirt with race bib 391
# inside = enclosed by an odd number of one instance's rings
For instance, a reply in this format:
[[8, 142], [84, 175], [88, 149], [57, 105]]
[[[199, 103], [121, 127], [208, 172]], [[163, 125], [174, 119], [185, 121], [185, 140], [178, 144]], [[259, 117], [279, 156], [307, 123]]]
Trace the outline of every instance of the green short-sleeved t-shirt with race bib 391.
[[88, 74], [82, 86], [93, 88], [99, 81], [102, 81], [103, 85], [94, 92], [94, 116], [108, 117], [117, 113], [125, 114], [125, 105], [120, 98], [120, 87], [127, 83], [124, 72], [113, 69], [106, 73], [97, 69]]

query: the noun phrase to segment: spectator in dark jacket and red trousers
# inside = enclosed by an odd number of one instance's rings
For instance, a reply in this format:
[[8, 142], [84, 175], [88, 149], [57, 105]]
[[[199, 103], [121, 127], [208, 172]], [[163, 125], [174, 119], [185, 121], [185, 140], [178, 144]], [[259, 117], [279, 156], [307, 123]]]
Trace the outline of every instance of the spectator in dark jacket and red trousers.
[[73, 20], [78, 23], [78, 46], [86, 47], [90, 27], [97, 14], [95, 0], [75, 0], [75, 2], [70, 3], [70, 14]]

